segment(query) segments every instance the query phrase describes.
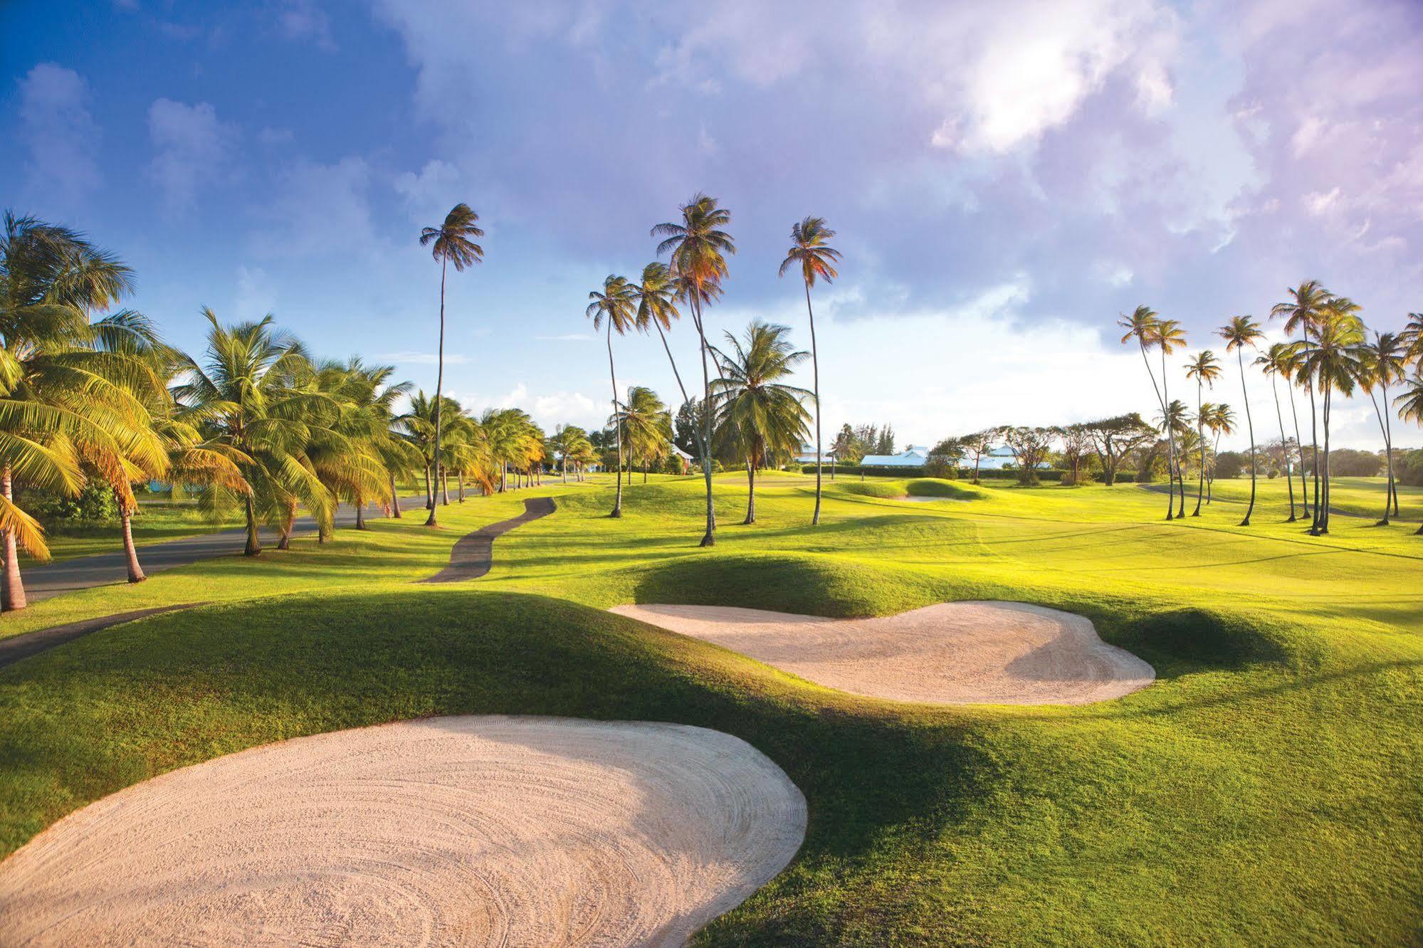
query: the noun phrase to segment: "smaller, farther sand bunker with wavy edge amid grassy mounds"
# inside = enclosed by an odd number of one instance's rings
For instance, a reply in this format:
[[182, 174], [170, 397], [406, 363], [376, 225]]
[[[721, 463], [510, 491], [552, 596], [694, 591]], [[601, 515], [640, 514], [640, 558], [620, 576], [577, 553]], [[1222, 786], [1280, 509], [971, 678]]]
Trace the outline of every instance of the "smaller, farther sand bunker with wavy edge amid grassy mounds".
[[1087, 705], [1155, 678], [1136, 655], [1097, 638], [1080, 615], [1020, 602], [945, 602], [877, 619], [731, 606], [613, 609], [804, 679], [904, 702]]

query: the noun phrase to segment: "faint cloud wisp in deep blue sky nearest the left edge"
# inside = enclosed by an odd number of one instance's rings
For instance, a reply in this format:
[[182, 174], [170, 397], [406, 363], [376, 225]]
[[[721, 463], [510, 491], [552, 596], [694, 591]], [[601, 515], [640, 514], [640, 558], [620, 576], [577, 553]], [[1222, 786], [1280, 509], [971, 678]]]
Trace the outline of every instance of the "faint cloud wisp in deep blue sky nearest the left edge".
[[30, 184], [64, 201], [78, 201], [101, 182], [100, 130], [90, 114], [83, 75], [41, 63], [20, 80], [21, 138], [30, 152]]

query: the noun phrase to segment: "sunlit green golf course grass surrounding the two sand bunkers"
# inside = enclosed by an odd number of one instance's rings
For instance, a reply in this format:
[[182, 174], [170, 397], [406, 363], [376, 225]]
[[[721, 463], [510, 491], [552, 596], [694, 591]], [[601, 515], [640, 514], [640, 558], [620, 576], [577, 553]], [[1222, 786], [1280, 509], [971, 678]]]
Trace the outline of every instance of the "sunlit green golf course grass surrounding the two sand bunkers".
[[[0, 672], [0, 851], [118, 787], [296, 734], [471, 712], [650, 719], [744, 737], [810, 803], [797, 861], [707, 944], [1417, 939], [1412, 527], [1338, 518], [1311, 538], [1274, 495], [1239, 530], [1224, 501], [1167, 524], [1164, 497], [1133, 485], [915, 478], [877, 481], [879, 497], [840, 478], [811, 528], [813, 478], [760, 484], [760, 522], [741, 527], [744, 480], [719, 478], [713, 549], [694, 545], [697, 480], [635, 483], [619, 521], [606, 481], [552, 484], [559, 511], [502, 537], [471, 584], [410, 581], [522, 495], [443, 510], [437, 532], [376, 521], [7, 616], [11, 632], [221, 601]], [[941, 491], [969, 502], [894, 500]], [[882, 615], [956, 598], [1084, 613], [1160, 680], [1070, 709], [859, 699], [602, 611]]]

